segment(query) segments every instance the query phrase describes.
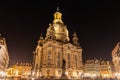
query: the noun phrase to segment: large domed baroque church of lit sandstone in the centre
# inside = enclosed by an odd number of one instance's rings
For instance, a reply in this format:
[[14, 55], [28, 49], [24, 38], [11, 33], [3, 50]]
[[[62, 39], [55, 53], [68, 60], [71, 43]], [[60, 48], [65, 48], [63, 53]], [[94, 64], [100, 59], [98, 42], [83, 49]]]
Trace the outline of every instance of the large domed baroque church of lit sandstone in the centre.
[[83, 72], [82, 48], [75, 32], [71, 41], [62, 13], [57, 9], [46, 37], [40, 36], [33, 53], [34, 77], [79, 78]]

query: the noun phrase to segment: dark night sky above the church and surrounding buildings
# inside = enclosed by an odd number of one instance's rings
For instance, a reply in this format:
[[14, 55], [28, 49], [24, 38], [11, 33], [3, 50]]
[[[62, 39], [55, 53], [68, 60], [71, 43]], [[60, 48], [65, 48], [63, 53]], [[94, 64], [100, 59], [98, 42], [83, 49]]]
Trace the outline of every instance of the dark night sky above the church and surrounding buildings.
[[[78, 2], [79, 1], [79, 2]], [[40, 34], [45, 37], [59, 6], [69, 36], [76, 32], [83, 60], [111, 60], [111, 51], [120, 41], [120, 5], [93, 0], [6, 0], [0, 2], [0, 33], [6, 38], [10, 66], [32, 62]]]

